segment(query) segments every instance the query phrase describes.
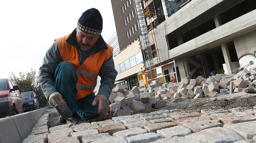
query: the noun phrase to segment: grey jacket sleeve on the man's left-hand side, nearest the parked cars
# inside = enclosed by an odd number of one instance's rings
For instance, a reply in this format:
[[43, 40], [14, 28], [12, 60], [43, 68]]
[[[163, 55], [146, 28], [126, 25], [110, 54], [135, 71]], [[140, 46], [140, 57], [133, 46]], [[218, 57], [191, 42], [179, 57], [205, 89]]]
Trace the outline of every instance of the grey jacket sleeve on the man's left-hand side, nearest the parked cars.
[[59, 53], [56, 41], [54, 41], [43, 58], [43, 63], [39, 68], [38, 74], [39, 85], [41, 86], [43, 94], [46, 96], [47, 100], [49, 100], [48, 97], [51, 93], [57, 92], [54, 85], [54, 72], [61, 61], [61, 54]]

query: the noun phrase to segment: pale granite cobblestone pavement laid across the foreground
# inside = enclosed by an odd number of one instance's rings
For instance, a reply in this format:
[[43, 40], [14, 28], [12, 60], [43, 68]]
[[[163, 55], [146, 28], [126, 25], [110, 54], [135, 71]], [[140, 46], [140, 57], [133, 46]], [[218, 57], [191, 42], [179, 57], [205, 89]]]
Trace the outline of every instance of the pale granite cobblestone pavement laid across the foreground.
[[[251, 94], [256, 96], [256, 94]], [[239, 95], [237, 95], [239, 96]], [[245, 95], [246, 96], [246, 95]], [[51, 109], [41, 116], [23, 143], [255, 143], [256, 105], [189, 112], [160, 110], [48, 128]]]

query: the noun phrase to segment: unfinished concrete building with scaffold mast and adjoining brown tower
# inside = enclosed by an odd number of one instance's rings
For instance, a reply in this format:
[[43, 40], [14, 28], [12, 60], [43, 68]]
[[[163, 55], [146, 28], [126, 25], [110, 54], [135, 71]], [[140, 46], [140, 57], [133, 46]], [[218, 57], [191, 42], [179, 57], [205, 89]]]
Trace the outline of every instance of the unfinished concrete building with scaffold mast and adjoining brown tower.
[[179, 82], [256, 66], [255, 0], [111, 3], [120, 50], [114, 57], [116, 81], [128, 89], [148, 86], [152, 79], [163, 83], [174, 76]]

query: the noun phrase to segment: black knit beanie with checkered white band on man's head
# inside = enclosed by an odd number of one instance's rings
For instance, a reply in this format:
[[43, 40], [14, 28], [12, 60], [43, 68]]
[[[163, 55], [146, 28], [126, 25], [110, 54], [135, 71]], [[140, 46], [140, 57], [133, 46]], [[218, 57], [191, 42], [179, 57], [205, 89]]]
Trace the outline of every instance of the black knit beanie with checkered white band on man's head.
[[103, 20], [98, 9], [91, 8], [82, 13], [78, 19], [77, 28], [83, 32], [93, 35], [100, 35], [102, 32]]

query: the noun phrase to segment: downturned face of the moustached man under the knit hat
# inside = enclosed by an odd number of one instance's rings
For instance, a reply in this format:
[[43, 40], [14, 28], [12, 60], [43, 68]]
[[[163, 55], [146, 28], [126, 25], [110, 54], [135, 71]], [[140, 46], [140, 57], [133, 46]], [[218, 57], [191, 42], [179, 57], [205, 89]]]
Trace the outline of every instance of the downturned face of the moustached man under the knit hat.
[[76, 31], [76, 41], [81, 50], [87, 51], [92, 48], [100, 35], [93, 35], [77, 29]]

